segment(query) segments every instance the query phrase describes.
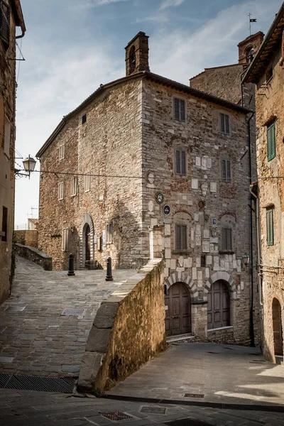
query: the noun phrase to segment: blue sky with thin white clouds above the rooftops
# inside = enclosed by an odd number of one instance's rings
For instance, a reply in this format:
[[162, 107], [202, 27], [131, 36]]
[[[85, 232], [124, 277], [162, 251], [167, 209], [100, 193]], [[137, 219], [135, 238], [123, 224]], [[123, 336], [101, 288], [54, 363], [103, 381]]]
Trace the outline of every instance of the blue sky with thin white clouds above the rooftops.
[[[24, 157], [34, 156], [63, 115], [99, 84], [123, 77], [124, 47], [138, 31], [150, 36], [151, 71], [188, 84], [204, 67], [236, 63], [236, 45], [249, 35], [248, 14], [257, 19], [253, 33], [266, 33], [281, 4], [280, 0], [21, 0], [27, 31], [18, 44], [26, 61], [17, 62], [16, 149]], [[31, 207], [33, 217], [38, 213], [38, 175], [16, 181], [18, 229], [25, 229]]]

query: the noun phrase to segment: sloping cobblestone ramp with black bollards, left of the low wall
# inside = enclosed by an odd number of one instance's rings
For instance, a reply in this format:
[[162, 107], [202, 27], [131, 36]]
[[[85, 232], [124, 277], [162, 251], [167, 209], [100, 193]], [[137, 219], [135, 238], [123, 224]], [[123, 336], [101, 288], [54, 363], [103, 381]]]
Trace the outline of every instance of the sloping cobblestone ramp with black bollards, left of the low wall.
[[[78, 376], [99, 304], [136, 271], [44, 271], [17, 258], [11, 297], [0, 306], [0, 372]], [[24, 308], [24, 309], [23, 309]], [[82, 315], [62, 316], [67, 308]]]

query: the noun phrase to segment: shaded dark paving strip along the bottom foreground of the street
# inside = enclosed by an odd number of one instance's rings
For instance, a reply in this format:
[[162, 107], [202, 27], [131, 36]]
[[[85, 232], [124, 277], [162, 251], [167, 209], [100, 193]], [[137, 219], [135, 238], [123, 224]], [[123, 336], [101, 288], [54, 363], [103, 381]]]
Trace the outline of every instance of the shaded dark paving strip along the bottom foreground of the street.
[[[284, 426], [283, 413], [263, 410], [222, 410], [142, 401], [131, 403], [13, 389], [0, 389], [0, 406], [0, 424], [3, 426], [111, 426], [116, 423], [147, 426], [165, 425], [172, 420], [185, 418], [216, 426]], [[129, 415], [129, 418], [116, 422], [102, 415], [118, 410]], [[192, 424], [189, 422], [188, 426]]]

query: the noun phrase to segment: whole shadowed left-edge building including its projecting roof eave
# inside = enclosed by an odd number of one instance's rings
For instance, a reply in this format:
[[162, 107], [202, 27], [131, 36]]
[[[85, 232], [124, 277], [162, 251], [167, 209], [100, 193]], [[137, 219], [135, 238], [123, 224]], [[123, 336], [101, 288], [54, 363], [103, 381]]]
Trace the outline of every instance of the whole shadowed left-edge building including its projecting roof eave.
[[[16, 26], [21, 35], [16, 37]], [[0, 1], [0, 303], [11, 287], [14, 211], [16, 38], [26, 31], [19, 0]]]

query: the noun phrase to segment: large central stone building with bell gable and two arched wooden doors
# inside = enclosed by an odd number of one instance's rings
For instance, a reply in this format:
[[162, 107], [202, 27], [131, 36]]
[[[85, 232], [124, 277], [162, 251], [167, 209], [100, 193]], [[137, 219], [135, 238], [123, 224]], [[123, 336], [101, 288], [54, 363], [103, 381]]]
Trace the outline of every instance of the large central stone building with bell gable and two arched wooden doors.
[[57, 269], [70, 251], [77, 268], [163, 257], [166, 333], [249, 344], [250, 112], [150, 72], [138, 33], [126, 77], [65, 116], [37, 153], [39, 249]]

